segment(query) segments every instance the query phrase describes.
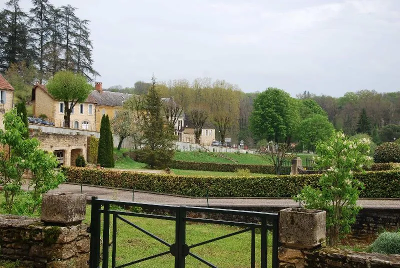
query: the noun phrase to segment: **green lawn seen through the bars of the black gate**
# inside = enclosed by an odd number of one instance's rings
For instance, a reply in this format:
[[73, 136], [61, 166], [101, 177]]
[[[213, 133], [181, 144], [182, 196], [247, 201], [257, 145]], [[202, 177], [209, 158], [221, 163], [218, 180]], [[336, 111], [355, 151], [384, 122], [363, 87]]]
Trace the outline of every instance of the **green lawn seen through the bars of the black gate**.
[[[168, 243], [175, 240], [175, 223], [171, 220], [149, 219], [141, 217], [123, 216], [136, 225], [145, 228], [147, 231], [157, 235]], [[90, 206], [86, 210], [86, 223], [90, 221]], [[102, 222], [102, 220], [100, 221]], [[224, 234], [240, 230], [238, 227], [216, 225], [216, 224], [186, 224], [186, 243], [188, 245], [215, 238]], [[110, 224], [110, 239], [112, 233], [112, 221]], [[268, 233], [268, 262], [270, 267], [272, 252], [272, 237]], [[250, 233], [245, 232], [224, 238], [212, 243], [195, 247], [190, 251], [200, 257], [210, 261], [218, 267], [249, 267], [250, 266]], [[255, 257], [260, 259], [260, 234], [255, 236]], [[152, 254], [168, 250], [168, 248], [136, 230], [134, 227], [117, 220], [116, 235], [116, 265], [121, 265], [129, 261], [137, 260]], [[166, 254], [151, 260], [135, 264], [135, 267], [173, 267], [174, 258], [171, 254]], [[111, 264], [111, 247], [109, 248], [109, 265]], [[257, 263], [256, 267], [260, 264]], [[186, 267], [208, 267], [197, 261], [191, 256], [186, 257]]]

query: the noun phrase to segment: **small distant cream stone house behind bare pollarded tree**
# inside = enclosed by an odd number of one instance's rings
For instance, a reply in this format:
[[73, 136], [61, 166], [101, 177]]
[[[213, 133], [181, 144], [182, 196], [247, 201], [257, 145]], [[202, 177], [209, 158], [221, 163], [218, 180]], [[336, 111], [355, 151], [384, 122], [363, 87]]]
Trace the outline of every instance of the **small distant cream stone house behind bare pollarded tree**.
[[[215, 140], [215, 127], [210, 122], [205, 121], [203, 129], [201, 131], [199, 143], [204, 145], [211, 145], [211, 142], [214, 140]], [[187, 114], [185, 114], [184, 116], [184, 129], [181, 141], [191, 142], [191, 143], [195, 142], [194, 124], [190, 116], [188, 116]]]

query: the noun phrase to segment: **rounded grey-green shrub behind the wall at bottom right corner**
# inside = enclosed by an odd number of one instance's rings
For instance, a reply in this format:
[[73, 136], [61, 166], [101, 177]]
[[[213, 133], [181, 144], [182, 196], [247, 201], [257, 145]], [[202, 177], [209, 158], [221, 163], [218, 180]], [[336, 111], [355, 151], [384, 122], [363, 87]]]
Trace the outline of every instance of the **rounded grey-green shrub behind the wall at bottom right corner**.
[[382, 254], [400, 254], [400, 232], [382, 232], [371, 244], [371, 251]]

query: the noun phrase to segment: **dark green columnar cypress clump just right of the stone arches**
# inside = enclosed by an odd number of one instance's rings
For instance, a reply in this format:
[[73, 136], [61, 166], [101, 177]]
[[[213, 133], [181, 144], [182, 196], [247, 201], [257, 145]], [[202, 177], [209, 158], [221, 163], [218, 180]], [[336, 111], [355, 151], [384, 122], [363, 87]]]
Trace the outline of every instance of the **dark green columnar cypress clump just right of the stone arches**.
[[114, 167], [113, 138], [108, 114], [101, 117], [100, 138], [98, 141], [97, 162], [102, 167]]

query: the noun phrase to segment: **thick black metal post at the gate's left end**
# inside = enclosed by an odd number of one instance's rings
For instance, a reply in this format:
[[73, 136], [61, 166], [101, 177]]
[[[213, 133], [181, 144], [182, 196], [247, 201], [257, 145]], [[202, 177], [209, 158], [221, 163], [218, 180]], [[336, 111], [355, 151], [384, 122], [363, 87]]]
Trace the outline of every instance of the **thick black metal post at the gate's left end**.
[[90, 268], [98, 268], [100, 265], [100, 207], [101, 204], [97, 202], [97, 196], [91, 196]]

